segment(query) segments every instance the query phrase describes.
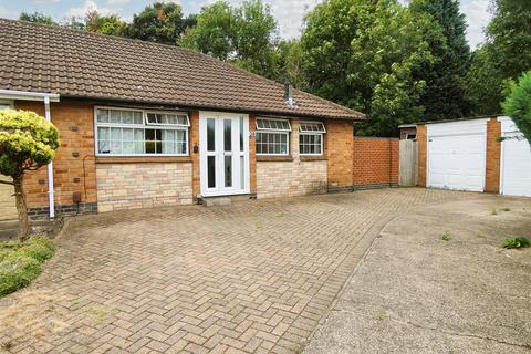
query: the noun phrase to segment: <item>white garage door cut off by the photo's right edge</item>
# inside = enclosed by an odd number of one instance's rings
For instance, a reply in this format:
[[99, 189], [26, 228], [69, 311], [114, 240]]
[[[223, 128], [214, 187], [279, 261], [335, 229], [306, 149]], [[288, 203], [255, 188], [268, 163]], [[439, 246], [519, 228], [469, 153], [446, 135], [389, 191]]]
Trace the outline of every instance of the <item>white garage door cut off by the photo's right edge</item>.
[[531, 146], [510, 118], [501, 117], [501, 194], [531, 197]]

